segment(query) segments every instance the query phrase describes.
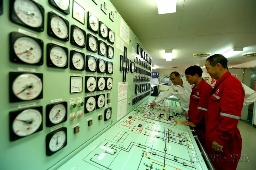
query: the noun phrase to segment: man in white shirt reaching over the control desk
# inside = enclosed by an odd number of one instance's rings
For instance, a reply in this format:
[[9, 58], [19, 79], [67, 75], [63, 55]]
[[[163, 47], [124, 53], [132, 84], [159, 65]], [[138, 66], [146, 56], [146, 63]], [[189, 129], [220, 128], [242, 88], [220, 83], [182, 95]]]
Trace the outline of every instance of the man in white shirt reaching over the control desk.
[[180, 99], [181, 108], [188, 112], [189, 99], [192, 92], [191, 85], [188, 83], [187, 78], [180, 77], [180, 74], [177, 71], [174, 71], [170, 74], [170, 80], [173, 84], [168, 88], [169, 90], [159, 96], [149, 106], [155, 107], [157, 103], [160, 103], [162, 100], [174, 95]]

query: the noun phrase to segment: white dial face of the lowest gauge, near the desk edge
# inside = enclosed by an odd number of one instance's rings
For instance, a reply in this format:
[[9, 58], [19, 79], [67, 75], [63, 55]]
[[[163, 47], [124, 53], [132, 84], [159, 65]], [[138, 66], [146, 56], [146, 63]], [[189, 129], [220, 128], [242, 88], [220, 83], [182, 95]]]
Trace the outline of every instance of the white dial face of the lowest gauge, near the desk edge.
[[50, 140], [49, 149], [52, 152], [56, 152], [60, 150], [65, 144], [66, 140], [67, 140], [67, 135], [64, 131], [56, 132]]

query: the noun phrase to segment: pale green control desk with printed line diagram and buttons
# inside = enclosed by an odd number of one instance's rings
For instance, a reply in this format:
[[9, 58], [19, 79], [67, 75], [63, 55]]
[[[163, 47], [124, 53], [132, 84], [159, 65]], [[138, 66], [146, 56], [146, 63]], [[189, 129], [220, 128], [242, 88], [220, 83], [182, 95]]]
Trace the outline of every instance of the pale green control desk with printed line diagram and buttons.
[[179, 103], [164, 100], [149, 108], [154, 99], [149, 97], [58, 170], [208, 169], [190, 128], [175, 124], [186, 120]]

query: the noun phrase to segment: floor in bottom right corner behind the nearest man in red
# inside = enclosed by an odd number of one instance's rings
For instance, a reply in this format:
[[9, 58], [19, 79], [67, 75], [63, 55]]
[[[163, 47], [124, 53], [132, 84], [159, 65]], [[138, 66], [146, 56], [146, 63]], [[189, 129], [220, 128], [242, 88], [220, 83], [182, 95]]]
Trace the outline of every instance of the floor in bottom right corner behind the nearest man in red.
[[236, 170], [255, 170], [256, 169], [256, 128], [249, 124], [239, 121], [238, 128], [240, 130], [243, 144], [242, 155]]

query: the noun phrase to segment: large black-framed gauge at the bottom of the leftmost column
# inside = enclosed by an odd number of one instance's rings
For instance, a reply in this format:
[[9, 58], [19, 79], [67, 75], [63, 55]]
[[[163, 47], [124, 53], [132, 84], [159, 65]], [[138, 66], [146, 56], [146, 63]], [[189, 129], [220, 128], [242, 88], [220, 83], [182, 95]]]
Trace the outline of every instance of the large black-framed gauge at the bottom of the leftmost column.
[[14, 141], [43, 130], [43, 107], [10, 112], [10, 140]]

